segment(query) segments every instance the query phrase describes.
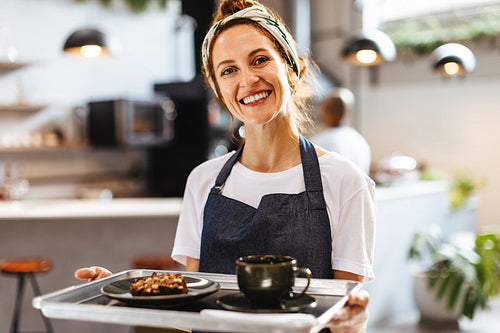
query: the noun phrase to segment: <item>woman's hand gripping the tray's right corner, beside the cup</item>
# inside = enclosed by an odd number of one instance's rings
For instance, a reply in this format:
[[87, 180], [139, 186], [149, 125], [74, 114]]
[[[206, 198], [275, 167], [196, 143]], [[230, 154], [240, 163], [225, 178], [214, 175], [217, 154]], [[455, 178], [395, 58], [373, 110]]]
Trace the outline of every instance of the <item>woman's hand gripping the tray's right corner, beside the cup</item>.
[[365, 290], [349, 294], [346, 305], [337, 312], [327, 327], [335, 333], [365, 332], [368, 323], [368, 310], [366, 307], [369, 301], [370, 295]]

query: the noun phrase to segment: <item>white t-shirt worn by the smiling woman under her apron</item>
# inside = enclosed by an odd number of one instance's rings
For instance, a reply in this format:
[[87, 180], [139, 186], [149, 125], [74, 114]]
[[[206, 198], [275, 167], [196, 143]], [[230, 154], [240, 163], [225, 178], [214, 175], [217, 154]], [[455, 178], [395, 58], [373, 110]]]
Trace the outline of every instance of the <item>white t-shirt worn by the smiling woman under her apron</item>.
[[[200, 258], [203, 211], [210, 189], [224, 163], [234, 152], [208, 160], [189, 175], [175, 236], [172, 257], [186, 264], [186, 257]], [[330, 152], [319, 158], [323, 191], [332, 232], [332, 268], [374, 279], [375, 183], [352, 162]], [[302, 165], [276, 172], [250, 170], [237, 162], [222, 194], [257, 208], [270, 193], [305, 191]]]

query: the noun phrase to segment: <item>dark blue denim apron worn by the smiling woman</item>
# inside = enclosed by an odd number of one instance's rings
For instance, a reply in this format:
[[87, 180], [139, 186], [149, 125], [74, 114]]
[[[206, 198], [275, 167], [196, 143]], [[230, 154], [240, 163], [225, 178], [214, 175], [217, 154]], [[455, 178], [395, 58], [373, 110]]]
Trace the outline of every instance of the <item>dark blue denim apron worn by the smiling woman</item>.
[[[200, 272], [235, 274], [240, 256], [280, 254], [297, 259], [314, 278], [332, 278], [332, 240], [314, 146], [300, 136], [305, 191], [267, 194], [257, 209], [222, 195], [241, 147], [221, 169], [205, 205]], [[241, 191], [245, 191], [244, 188]]]

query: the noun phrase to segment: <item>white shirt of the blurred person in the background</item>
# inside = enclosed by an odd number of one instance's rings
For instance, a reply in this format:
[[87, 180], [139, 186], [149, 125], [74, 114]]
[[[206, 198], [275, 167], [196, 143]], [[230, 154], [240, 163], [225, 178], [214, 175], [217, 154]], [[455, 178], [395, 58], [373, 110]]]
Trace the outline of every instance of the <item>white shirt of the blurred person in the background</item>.
[[311, 138], [311, 142], [328, 151], [339, 153], [359, 166], [366, 174], [370, 173], [370, 146], [354, 128], [345, 125], [328, 128]]

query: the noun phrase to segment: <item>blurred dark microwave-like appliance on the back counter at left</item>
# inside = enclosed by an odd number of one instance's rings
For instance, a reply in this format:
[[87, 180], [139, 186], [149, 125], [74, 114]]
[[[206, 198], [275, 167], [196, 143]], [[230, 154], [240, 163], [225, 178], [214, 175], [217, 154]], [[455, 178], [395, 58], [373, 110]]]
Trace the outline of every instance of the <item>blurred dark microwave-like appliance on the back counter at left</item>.
[[88, 103], [87, 138], [94, 147], [150, 147], [174, 137], [175, 107], [168, 98]]

